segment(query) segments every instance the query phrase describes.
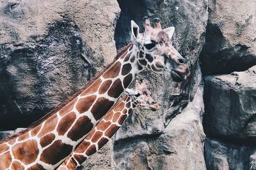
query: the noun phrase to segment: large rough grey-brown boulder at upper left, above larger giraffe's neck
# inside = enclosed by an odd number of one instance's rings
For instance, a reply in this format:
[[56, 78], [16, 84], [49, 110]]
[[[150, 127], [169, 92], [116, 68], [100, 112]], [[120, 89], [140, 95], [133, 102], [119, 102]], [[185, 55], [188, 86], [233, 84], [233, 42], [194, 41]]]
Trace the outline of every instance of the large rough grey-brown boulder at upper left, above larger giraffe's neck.
[[0, 129], [27, 127], [115, 57], [114, 0], [0, 4]]

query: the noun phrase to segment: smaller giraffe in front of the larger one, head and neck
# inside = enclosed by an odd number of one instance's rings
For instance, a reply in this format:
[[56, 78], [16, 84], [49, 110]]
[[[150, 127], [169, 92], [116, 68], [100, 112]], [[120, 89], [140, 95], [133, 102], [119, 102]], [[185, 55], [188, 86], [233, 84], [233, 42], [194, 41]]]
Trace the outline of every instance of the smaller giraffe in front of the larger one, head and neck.
[[152, 111], [159, 110], [159, 105], [152, 99], [145, 81], [136, 80], [135, 90], [127, 89], [127, 95], [100, 120], [84, 141], [58, 167], [58, 170], [71, 170], [81, 166], [83, 162], [104, 146], [122, 126], [132, 110], [139, 106]]

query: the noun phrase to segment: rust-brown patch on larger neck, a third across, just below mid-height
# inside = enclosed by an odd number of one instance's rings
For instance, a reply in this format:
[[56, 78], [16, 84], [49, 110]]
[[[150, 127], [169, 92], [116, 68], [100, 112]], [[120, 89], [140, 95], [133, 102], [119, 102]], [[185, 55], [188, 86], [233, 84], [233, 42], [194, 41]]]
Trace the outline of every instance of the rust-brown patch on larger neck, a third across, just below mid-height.
[[92, 106], [93, 102], [97, 96], [88, 96], [84, 97], [83, 99], [79, 99], [78, 103], [76, 104], [76, 109], [79, 113], [84, 113], [89, 110], [89, 108]]

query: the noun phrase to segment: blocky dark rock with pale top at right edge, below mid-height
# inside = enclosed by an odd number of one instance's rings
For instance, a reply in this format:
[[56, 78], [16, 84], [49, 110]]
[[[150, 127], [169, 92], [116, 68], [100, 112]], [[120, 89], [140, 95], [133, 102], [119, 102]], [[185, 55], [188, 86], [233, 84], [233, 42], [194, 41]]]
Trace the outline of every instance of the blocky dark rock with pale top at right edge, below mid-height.
[[256, 66], [205, 77], [204, 128], [216, 139], [256, 141]]

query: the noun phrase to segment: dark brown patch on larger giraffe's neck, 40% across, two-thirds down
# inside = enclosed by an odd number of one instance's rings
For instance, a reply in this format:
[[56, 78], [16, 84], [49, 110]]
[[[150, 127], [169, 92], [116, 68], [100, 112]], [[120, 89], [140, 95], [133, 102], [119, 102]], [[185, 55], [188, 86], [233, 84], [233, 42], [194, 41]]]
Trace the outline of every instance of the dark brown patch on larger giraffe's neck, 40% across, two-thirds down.
[[92, 114], [95, 120], [99, 120], [100, 118], [102, 118], [113, 106], [113, 104], [113, 101], [109, 101], [104, 97], [100, 97], [92, 108]]

